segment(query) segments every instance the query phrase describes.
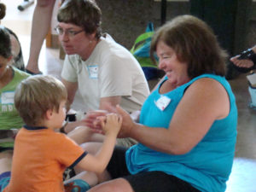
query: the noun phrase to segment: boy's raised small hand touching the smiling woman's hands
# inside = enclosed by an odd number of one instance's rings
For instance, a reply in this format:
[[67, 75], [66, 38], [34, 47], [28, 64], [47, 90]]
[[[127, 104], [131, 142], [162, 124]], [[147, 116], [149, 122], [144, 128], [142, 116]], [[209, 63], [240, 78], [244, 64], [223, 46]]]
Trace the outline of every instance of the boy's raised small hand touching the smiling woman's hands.
[[116, 113], [108, 113], [105, 117], [101, 119], [102, 131], [105, 135], [110, 133], [115, 133], [118, 135], [120, 127], [122, 125], [122, 117]]

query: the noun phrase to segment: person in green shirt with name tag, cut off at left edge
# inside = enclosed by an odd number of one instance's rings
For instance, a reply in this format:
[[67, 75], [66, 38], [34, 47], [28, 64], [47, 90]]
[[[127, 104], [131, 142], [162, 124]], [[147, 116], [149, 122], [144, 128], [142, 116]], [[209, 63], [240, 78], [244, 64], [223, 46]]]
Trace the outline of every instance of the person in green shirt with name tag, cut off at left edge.
[[15, 89], [22, 79], [29, 76], [9, 65], [12, 58], [9, 31], [0, 26], [0, 173], [10, 170], [14, 129], [23, 125], [14, 105]]

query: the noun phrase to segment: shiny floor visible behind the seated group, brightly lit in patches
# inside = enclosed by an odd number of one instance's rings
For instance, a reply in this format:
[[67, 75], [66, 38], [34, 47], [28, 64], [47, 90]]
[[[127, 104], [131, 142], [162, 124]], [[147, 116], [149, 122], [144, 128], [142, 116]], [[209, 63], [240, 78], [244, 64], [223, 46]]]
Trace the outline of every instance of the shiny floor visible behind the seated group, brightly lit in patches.
[[[20, 12], [17, 6], [22, 1], [2, 0], [7, 5], [7, 15], [2, 20], [2, 24], [18, 34], [26, 62], [34, 5]], [[44, 45], [39, 60], [43, 73], [60, 77], [63, 61], [59, 59], [58, 49], [46, 49]], [[236, 95], [239, 119], [236, 158], [226, 192], [256, 192], [256, 110], [248, 108], [250, 96], [245, 74], [230, 80], [230, 84]]]

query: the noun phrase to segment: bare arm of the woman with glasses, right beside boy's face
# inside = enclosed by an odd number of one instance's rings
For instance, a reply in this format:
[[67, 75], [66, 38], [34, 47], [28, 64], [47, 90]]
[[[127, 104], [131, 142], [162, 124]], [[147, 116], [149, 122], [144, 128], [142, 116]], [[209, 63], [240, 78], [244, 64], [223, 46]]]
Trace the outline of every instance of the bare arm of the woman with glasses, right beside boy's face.
[[66, 108], [67, 108], [67, 112], [68, 112], [71, 104], [73, 103], [74, 96], [78, 90], [78, 83], [77, 82], [69, 82], [65, 79], [61, 79], [61, 82], [65, 85], [65, 87], [67, 89]]

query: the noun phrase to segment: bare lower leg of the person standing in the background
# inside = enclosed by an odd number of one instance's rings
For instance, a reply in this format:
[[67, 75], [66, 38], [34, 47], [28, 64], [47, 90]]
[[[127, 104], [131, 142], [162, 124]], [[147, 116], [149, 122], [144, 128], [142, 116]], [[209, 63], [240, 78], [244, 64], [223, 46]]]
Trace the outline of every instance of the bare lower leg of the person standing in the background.
[[29, 59], [26, 69], [32, 73], [40, 73], [38, 68], [38, 58], [44, 38], [49, 31], [52, 12], [55, 0], [38, 0], [32, 18], [32, 34]]

